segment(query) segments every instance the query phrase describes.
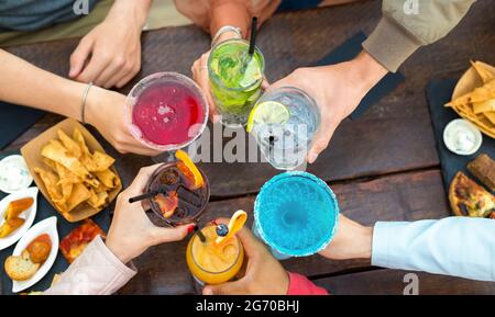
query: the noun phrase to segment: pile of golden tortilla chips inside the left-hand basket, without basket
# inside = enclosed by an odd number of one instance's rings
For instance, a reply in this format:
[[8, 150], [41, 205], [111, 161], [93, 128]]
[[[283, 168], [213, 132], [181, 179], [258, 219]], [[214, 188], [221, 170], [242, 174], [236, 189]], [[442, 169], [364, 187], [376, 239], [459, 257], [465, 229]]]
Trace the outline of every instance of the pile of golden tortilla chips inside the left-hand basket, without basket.
[[58, 139], [51, 139], [41, 155], [46, 168], [34, 168], [50, 199], [62, 214], [81, 205], [102, 210], [109, 192], [120, 186], [119, 177], [110, 170], [114, 159], [105, 152], [90, 152], [82, 133], [76, 127], [73, 137], [62, 129]]

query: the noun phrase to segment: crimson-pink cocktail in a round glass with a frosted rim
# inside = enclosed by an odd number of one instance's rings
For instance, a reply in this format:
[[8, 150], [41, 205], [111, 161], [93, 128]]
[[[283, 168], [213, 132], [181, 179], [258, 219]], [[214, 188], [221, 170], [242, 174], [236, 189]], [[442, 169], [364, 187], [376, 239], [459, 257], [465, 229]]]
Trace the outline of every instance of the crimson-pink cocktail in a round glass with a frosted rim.
[[188, 77], [158, 72], [131, 90], [127, 117], [132, 135], [157, 150], [175, 150], [193, 143], [205, 129], [208, 105]]

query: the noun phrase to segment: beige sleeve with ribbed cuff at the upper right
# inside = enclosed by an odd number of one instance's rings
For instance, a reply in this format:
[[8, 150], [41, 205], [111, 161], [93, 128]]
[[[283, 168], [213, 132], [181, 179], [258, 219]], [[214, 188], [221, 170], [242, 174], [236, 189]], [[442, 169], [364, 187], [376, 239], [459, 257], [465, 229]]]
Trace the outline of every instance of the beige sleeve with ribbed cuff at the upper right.
[[363, 48], [391, 71], [420, 46], [444, 37], [476, 0], [383, 0], [383, 18]]

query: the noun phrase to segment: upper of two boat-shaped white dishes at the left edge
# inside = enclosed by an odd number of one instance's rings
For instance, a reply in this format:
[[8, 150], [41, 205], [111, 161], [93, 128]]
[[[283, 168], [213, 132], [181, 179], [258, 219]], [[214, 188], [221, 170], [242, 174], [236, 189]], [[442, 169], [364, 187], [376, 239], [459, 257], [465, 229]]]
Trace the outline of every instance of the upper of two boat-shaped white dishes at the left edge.
[[21, 227], [19, 227], [15, 231], [10, 234], [9, 236], [0, 238], [0, 250], [3, 250], [15, 244], [28, 231], [31, 225], [33, 225], [34, 217], [36, 216], [37, 211], [38, 191], [40, 190], [37, 188], [29, 188], [25, 190], [18, 191], [13, 194], [10, 194], [0, 201], [0, 226], [1, 226], [6, 222], [6, 219], [3, 218], [3, 214], [7, 212], [7, 207], [9, 206], [10, 202], [25, 197], [32, 197], [34, 200], [33, 205], [28, 210], [25, 210], [21, 215], [19, 215], [20, 218], [23, 218], [25, 220], [24, 224], [22, 224]]

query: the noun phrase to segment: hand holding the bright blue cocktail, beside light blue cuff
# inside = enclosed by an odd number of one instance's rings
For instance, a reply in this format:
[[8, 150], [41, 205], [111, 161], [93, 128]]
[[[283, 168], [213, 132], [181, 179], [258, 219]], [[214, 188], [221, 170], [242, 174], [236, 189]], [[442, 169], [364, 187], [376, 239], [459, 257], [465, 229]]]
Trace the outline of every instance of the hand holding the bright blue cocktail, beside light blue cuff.
[[320, 256], [332, 260], [370, 259], [372, 256], [373, 228], [339, 215], [339, 227], [330, 245]]

